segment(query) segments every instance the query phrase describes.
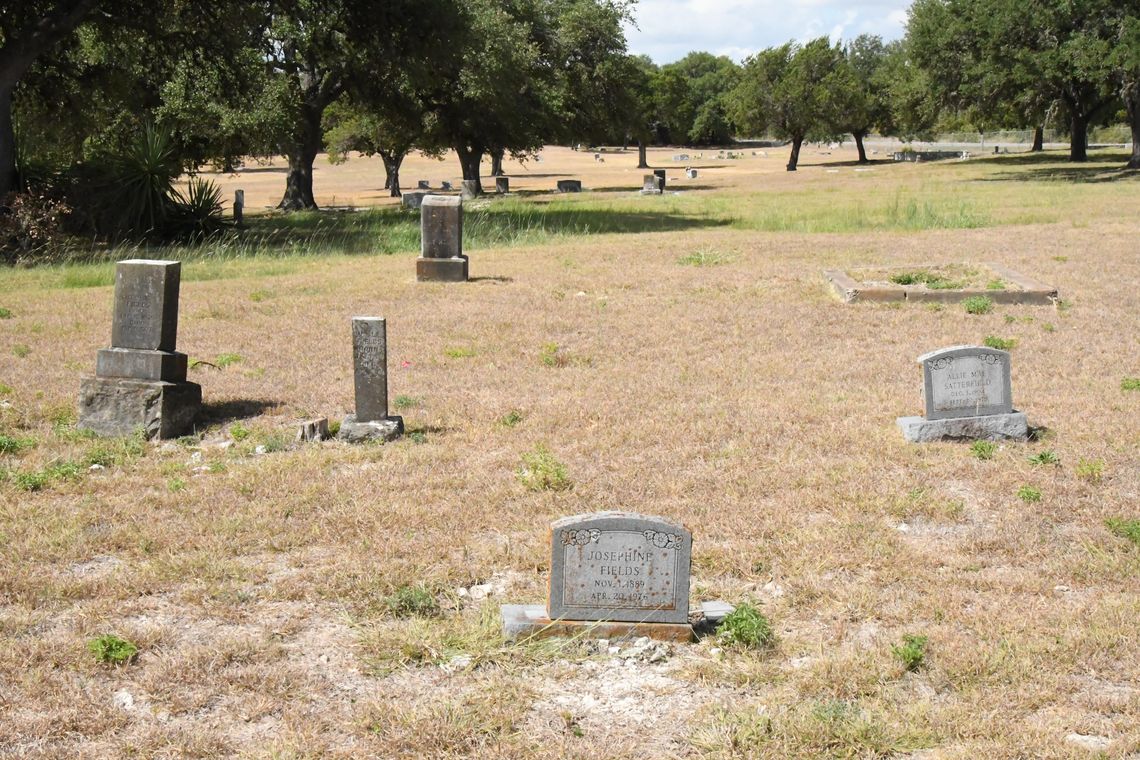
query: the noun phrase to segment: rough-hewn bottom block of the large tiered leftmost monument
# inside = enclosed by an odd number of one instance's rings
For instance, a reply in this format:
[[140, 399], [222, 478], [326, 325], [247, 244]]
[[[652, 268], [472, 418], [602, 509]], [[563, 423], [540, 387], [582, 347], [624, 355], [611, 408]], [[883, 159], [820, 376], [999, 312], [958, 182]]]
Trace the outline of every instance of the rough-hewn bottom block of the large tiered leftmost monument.
[[178, 438], [194, 432], [202, 406], [197, 383], [166, 383], [124, 377], [84, 377], [79, 389], [79, 424], [99, 435], [147, 439]]

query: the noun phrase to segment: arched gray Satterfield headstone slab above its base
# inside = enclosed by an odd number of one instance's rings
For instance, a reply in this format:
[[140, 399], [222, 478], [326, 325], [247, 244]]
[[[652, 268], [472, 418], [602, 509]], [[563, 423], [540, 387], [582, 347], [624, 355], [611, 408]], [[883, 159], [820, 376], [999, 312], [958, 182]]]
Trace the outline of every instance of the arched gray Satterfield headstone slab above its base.
[[1013, 410], [1009, 352], [955, 345], [925, 353], [926, 418], [980, 417]]

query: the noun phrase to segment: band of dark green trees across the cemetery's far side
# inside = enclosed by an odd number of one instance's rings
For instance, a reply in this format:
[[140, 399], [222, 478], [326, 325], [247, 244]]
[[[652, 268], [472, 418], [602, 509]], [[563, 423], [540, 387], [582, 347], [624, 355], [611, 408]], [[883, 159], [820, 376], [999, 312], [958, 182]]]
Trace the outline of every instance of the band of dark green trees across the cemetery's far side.
[[279, 206], [311, 209], [321, 152], [378, 155], [399, 195], [412, 152], [454, 149], [478, 182], [544, 144], [636, 144], [646, 166], [649, 145], [766, 134], [795, 170], [805, 140], [850, 134], [865, 161], [872, 132], [1032, 128], [1040, 149], [1051, 122], [1083, 161], [1091, 126], [1127, 122], [1140, 167], [1140, 0], [914, 0], [899, 41], [660, 66], [627, 51], [633, 2], [21, 0], [0, 13], [0, 226], [70, 204], [97, 235], [204, 235], [220, 199], [181, 172], [280, 156]]

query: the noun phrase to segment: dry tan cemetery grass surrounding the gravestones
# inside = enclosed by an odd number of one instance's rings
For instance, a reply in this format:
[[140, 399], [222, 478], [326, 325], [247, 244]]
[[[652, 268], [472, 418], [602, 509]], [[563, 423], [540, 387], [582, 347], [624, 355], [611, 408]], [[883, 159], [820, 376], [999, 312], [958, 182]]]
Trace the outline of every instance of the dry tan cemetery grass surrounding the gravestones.
[[[0, 272], [0, 757], [1140, 752], [1140, 178], [769, 149], [686, 186], [670, 153], [684, 193], [641, 197], [636, 152], [547, 149], [470, 204], [465, 285], [414, 281], [417, 218], [358, 160], [318, 202], [375, 211]], [[563, 177], [594, 191], [539, 193]], [[251, 209], [283, 185], [222, 179]], [[186, 261], [198, 435], [74, 427], [135, 255]], [[822, 275], [987, 261], [1061, 303], [845, 305]], [[408, 434], [296, 444], [352, 410], [353, 316], [388, 319]], [[987, 337], [1036, 440], [905, 443], [914, 359]], [[545, 600], [549, 523], [601, 509], [685, 523], [693, 605], [771, 636], [502, 641], [499, 604]]]

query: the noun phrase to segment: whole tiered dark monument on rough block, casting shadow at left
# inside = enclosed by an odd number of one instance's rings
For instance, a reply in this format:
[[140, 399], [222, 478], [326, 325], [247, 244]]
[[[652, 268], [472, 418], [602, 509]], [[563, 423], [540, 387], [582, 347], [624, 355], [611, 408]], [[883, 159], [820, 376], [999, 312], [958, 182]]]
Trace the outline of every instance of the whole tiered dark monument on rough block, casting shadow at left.
[[202, 387], [186, 382], [178, 337], [181, 263], [130, 259], [115, 267], [111, 348], [80, 383], [79, 423], [100, 435], [178, 438], [193, 431]]

